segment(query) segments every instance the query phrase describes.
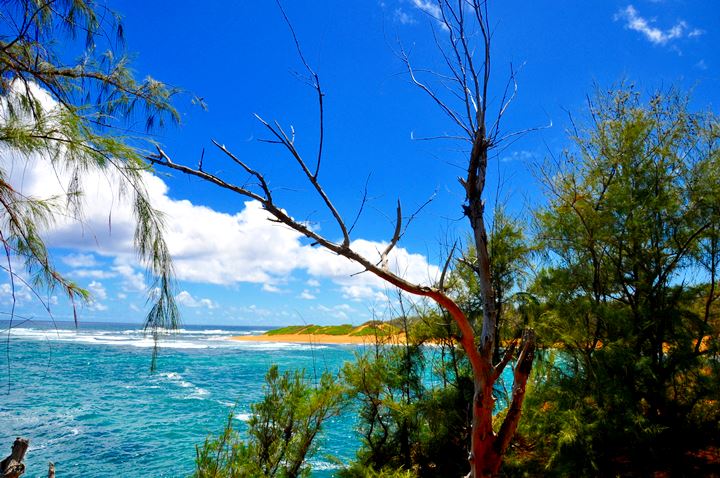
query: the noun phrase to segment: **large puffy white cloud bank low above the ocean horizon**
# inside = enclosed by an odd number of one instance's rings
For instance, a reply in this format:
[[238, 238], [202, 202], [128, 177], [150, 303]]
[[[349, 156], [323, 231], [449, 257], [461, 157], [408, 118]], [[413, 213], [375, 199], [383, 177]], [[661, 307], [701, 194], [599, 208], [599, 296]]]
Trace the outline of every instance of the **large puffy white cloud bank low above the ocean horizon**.
[[[430, 5], [419, 0], [415, 3], [418, 8]], [[69, 172], [60, 166], [50, 166], [38, 156], [1, 156], [0, 167], [23, 194], [62, 197], [67, 190]], [[165, 214], [166, 239], [181, 280], [220, 285], [256, 283], [262, 284], [265, 291], [279, 292], [277, 284], [287, 284], [294, 272], [304, 271], [313, 281], [308, 282], [310, 287], [329, 279], [353, 299], [376, 298], [385, 290], [386, 284], [370, 274], [351, 276], [362, 270], [360, 266], [322, 248], [313, 248], [300, 233], [268, 221], [268, 213], [258, 202], [238, 197], [238, 212], [218, 212], [188, 200], [172, 199], [162, 179], [150, 173], [143, 175], [153, 205]], [[86, 172], [82, 178], [82, 222], [58, 217], [45, 235], [50, 246], [80, 251], [63, 259], [68, 265], [83, 267], [74, 272], [77, 277], [119, 277], [123, 291], [144, 291], [146, 277], [133, 249], [132, 210], [119, 197], [121, 188], [115, 176], [113, 171]], [[386, 245], [357, 239], [351, 247], [377, 262], [379, 251]], [[94, 262], [90, 252], [111, 257], [114, 262], [103, 268]], [[438, 268], [428, 264], [424, 256], [402, 247], [392, 251], [388, 262], [394, 272], [412, 282], [427, 284], [438, 275]]]

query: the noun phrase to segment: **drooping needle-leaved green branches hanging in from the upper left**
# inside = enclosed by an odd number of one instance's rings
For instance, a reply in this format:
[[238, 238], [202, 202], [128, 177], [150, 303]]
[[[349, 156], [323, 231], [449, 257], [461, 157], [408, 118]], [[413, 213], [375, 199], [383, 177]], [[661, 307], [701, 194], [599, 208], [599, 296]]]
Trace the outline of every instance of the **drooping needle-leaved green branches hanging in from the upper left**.
[[[137, 81], [122, 52], [119, 17], [92, 0], [11, 0], [0, 6], [0, 147], [23, 160], [39, 156], [71, 178], [62, 198], [24, 197], [0, 171], [2, 240], [8, 259], [20, 256], [32, 286], [59, 286], [71, 299], [87, 292], [53, 267], [40, 231], [60, 214], [82, 220], [83, 175], [102, 171], [119, 178], [134, 206], [135, 246], [155, 277], [154, 305], [146, 327], [153, 335], [177, 326], [172, 264], [163, 239], [163, 218], [143, 184], [148, 168], [127, 124], [146, 128], [179, 119], [170, 104], [174, 90], [148, 77]], [[82, 41], [79, 38], [82, 36]], [[62, 54], [60, 51], [62, 45]], [[106, 47], [107, 50], [102, 51]], [[68, 64], [68, 50], [80, 58]], [[66, 205], [70, 210], [66, 210]], [[20, 279], [11, 270], [11, 280]]]

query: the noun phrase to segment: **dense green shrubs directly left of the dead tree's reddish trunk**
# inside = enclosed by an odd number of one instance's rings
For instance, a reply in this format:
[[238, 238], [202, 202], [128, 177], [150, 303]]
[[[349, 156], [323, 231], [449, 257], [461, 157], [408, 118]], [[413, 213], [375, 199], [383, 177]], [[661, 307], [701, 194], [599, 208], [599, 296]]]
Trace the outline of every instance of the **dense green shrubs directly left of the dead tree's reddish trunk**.
[[[452, 321], [434, 315], [405, 321], [407, 344], [377, 345], [343, 369], [359, 405], [362, 446], [341, 476], [467, 472], [473, 385], [469, 365], [450, 339]], [[438, 342], [432, 351], [422, 345], [430, 338]]]

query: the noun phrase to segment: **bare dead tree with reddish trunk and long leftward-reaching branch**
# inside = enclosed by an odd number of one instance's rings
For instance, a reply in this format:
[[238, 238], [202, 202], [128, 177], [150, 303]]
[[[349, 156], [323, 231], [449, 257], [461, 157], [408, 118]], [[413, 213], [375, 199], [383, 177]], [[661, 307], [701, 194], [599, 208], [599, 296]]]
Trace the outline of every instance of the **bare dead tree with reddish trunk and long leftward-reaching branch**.
[[[497, 363], [493, 362], [493, 349], [498, 340], [497, 313], [495, 309], [495, 290], [493, 289], [491, 277], [492, 258], [488, 251], [483, 192], [485, 190], [489, 152], [503, 141], [519, 133], [506, 136], [501, 136], [499, 133], [500, 120], [516, 91], [512, 71], [510, 79], [505, 85], [502, 100], [497, 105], [497, 111], [492, 117], [490, 117], [488, 111], [487, 95], [490, 84], [491, 31], [488, 23], [487, 5], [480, 0], [438, 0], [437, 9], [433, 9], [435, 13], [433, 21], [439, 22], [441, 34], [446, 36], [445, 43], [441, 42], [437, 36], [435, 37], [449, 71], [449, 74], [442, 76], [443, 87], [447, 88], [449, 86], [454, 91], [451, 98], [455, 98], [455, 103], [451, 103], [452, 99], [449, 101], [443, 99], [443, 96], [436, 93], [430, 84], [419, 78], [411, 65], [409, 56], [402, 48], [400, 49], [400, 57], [407, 66], [411, 81], [424, 91], [437, 104], [440, 111], [457, 126], [460, 131], [459, 137], [467, 141], [469, 145], [466, 173], [459, 178], [459, 181], [465, 191], [465, 202], [462, 208], [472, 230], [477, 254], [477, 258], [471, 262], [471, 265], [479, 280], [483, 303], [483, 320], [479, 336], [476, 336], [473, 324], [453, 300], [451, 293], [445, 288], [445, 273], [452, 261], [452, 257], [448, 258], [440, 281], [434, 286], [409, 282], [387, 267], [388, 255], [402, 238], [408, 223], [413, 217], [410, 216], [409, 220], [404, 221], [399, 201], [395, 214], [393, 235], [385, 250], [381, 251], [377, 258], [363, 256], [351, 247], [350, 234], [352, 226], [348, 227], [319, 179], [323, 161], [323, 138], [325, 134], [323, 122], [324, 94], [320, 86], [320, 79], [305, 60], [295, 31], [282, 6], [280, 6], [280, 10], [292, 33], [298, 56], [308, 74], [309, 83], [317, 95], [319, 137], [317, 150], [313, 153], [312, 159], [306, 159], [303, 153], [296, 148], [295, 133], [292, 128], [287, 131], [277, 121], [271, 123], [257, 115], [256, 117], [271, 135], [268, 142], [280, 145], [297, 163], [301, 174], [312, 186], [314, 194], [317, 195], [328, 213], [334, 218], [342, 240], [332, 241], [306, 223], [293, 219], [289, 212], [286, 212], [275, 202], [273, 191], [268, 185], [264, 174], [255, 169], [249, 162], [228, 150], [221, 143], [213, 141], [220, 152], [249, 175], [251, 182], [245, 184], [232, 183], [221, 175], [212, 174], [207, 169], [203, 169], [202, 162], [198, 163], [197, 167], [176, 163], [160, 148], [157, 149], [156, 154], [149, 155], [147, 159], [155, 165], [198, 177], [220, 188], [254, 199], [273, 216], [275, 221], [300, 232], [312, 240], [313, 244], [320, 245], [339, 256], [356, 262], [365, 271], [405, 292], [428, 297], [445, 308], [460, 330], [460, 336], [457, 340], [468, 357], [474, 377], [475, 392], [472, 404], [470, 473], [468, 476], [475, 478], [495, 476], [500, 469], [502, 457], [515, 434], [520, 420], [525, 386], [532, 368], [535, 352], [535, 336], [532, 330], [526, 330], [522, 337], [517, 337], [512, 341]], [[475, 38], [480, 39], [479, 45], [474, 43]], [[476, 51], [481, 53], [479, 59], [476, 58]], [[493, 410], [495, 406], [493, 386], [500, 378], [505, 367], [513, 362], [512, 399], [502, 424], [497, 428], [498, 431], [495, 432], [493, 429]]]

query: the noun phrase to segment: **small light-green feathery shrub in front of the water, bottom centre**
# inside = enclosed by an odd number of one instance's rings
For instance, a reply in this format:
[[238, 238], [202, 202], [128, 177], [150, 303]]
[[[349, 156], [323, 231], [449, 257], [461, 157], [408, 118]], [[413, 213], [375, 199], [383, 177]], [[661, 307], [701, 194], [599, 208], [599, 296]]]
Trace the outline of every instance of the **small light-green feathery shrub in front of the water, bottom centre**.
[[325, 420], [340, 413], [343, 389], [329, 373], [312, 386], [304, 373], [277, 366], [265, 376], [264, 397], [252, 405], [248, 438], [232, 427], [197, 449], [197, 478], [309, 476], [307, 458], [317, 450], [317, 435]]

